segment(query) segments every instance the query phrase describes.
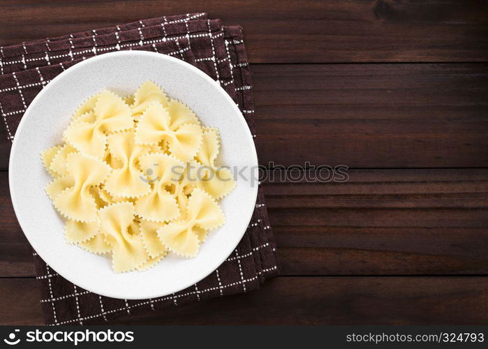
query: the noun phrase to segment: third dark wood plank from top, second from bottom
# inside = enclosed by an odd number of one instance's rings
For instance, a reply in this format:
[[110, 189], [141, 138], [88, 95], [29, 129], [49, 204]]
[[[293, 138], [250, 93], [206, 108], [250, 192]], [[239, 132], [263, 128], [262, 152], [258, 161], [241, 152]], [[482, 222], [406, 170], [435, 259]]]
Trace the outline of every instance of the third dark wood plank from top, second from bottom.
[[[351, 170], [265, 195], [285, 275], [488, 274], [488, 169]], [[313, 179], [309, 174], [309, 179]], [[34, 276], [0, 173], [0, 276]]]

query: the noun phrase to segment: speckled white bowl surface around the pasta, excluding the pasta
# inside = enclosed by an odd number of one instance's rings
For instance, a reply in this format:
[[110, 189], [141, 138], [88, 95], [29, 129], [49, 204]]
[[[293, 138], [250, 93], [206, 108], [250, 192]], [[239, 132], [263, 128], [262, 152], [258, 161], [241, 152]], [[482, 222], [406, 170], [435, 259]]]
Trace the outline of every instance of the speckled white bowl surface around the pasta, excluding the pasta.
[[[110, 89], [124, 96], [152, 80], [191, 107], [203, 124], [219, 128], [219, 161], [231, 168], [257, 168], [249, 128], [232, 98], [194, 66], [154, 52], [124, 51], [82, 61], [55, 77], [24, 114], [10, 151], [10, 195], [17, 219], [38, 255], [75, 285], [100, 295], [145, 299], [169, 295], [205, 278], [228, 258], [246, 231], [258, 193], [257, 183], [237, 177], [221, 200], [225, 225], [209, 234], [193, 259], [168, 255], [145, 272], [116, 274], [110, 258], [68, 244], [64, 221], [44, 188], [50, 175], [40, 153], [61, 143], [71, 114], [89, 96]], [[249, 177], [248, 173], [248, 177]]]

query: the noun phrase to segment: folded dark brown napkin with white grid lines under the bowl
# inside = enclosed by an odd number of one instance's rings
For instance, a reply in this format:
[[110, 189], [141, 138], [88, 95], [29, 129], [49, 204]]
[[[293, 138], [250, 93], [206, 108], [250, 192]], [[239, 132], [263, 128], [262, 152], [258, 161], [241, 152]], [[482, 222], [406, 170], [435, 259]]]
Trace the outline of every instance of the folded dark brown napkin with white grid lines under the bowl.
[[[223, 27], [219, 20], [209, 20], [206, 13], [193, 13], [0, 47], [0, 112], [8, 138], [13, 140], [27, 106], [50, 80], [83, 59], [117, 50], [169, 54], [200, 68], [228, 92], [256, 135], [251, 72], [242, 29]], [[48, 325], [94, 325], [121, 315], [150, 313], [256, 290], [265, 279], [278, 274], [276, 246], [261, 187], [249, 228], [229, 258], [202, 281], [166, 297], [103, 297], [59, 276], [35, 252], [34, 262]]]

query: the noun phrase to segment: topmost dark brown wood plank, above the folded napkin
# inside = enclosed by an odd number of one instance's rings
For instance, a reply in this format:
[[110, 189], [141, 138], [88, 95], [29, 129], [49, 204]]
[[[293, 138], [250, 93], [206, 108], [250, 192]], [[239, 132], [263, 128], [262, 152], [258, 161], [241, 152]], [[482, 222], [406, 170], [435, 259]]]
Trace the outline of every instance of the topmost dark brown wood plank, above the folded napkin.
[[[2, 1], [0, 45], [205, 10], [244, 27], [252, 62], [487, 61], [485, 1]], [[285, 53], [286, 52], [286, 53]]]

